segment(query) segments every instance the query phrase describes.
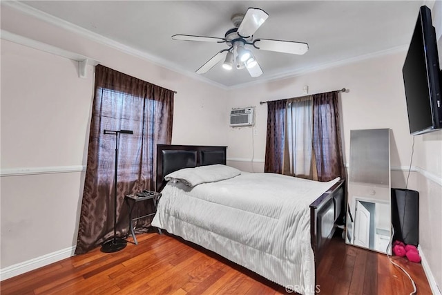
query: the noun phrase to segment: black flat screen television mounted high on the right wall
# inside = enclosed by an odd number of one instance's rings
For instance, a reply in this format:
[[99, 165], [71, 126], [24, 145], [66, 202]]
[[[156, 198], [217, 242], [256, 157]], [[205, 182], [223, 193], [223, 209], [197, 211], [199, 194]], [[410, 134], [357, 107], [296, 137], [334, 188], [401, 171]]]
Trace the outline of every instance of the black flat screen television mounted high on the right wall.
[[422, 6], [402, 69], [412, 135], [442, 128], [440, 71], [431, 10]]

